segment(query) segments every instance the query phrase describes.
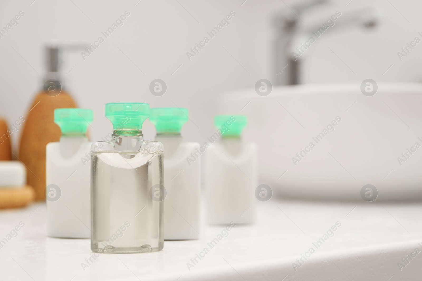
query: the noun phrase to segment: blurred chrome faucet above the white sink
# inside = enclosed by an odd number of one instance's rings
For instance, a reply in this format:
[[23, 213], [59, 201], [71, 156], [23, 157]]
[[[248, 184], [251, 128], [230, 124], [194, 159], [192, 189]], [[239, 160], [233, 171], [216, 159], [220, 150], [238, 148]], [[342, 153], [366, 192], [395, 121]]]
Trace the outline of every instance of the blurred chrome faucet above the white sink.
[[[294, 45], [300, 35], [312, 35], [320, 29], [320, 26], [306, 27], [300, 18], [304, 11], [316, 6], [328, 3], [328, 0], [314, 0], [305, 4], [288, 8], [287, 11], [279, 13], [274, 19], [275, 41], [273, 48], [273, 73], [275, 75], [274, 85], [296, 85], [300, 84], [301, 59], [298, 58], [298, 48], [303, 44]], [[321, 25], [324, 24], [321, 21]], [[303, 24], [301, 24], [303, 22]], [[378, 14], [375, 8], [364, 8], [354, 12], [342, 13], [339, 21], [335, 22], [335, 29], [344, 27], [363, 26], [371, 28], [376, 26]], [[314, 36], [315, 37], [315, 36]], [[293, 53], [296, 53], [293, 54]], [[300, 52], [300, 51], [299, 51]]]

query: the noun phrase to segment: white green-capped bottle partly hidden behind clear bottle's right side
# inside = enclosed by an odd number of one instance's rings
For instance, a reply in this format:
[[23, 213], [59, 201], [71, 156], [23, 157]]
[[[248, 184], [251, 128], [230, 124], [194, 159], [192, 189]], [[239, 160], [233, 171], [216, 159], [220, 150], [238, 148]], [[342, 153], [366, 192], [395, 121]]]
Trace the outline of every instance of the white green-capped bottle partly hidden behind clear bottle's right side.
[[186, 108], [152, 108], [149, 120], [157, 129], [155, 140], [164, 146], [164, 240], [198, 239], [200, 228], [200, 159], [188, 161], [199, 144], [184, 142], [181, 128]]

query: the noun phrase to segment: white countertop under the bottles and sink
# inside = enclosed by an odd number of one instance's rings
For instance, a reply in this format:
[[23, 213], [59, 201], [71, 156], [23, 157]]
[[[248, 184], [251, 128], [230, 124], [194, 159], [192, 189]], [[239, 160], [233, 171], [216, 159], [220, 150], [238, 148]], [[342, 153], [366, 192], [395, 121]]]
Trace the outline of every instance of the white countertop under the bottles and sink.
[[[46, 206], [34, 203], [0, 211], [0, 239], [24, 223], [0, 249], [0, 280], [419, 280], [422, 253], [401, 271], [398, 262], [422, 250], [422, 204], [364, 203], [272, 198], [257, 202], [254, 225], [236, 225], [213, 248], [207, 243], [224, 226], [203, 223], [200, 240], [165, 241], [155, 253], [100, 254], [87, 268], [81, 263], [93, 254], [89, 239], [47, 237]], [[316, 248], [336, 222], [334, 236]], [[292, 263], [311, 247], [295, 271]], [[209, 252], [189, 270], [204, 248]]]

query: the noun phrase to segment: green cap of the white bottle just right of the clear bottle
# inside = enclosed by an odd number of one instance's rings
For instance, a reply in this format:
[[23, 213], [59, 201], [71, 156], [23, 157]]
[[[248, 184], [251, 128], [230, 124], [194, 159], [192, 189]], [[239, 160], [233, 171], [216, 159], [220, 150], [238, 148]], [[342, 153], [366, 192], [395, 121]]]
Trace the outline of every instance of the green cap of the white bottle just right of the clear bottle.
[[151, 108], [149, 120], [159, 133], [180, 133], [183, 124], [188, 120], [188, 111], [179, 107]]

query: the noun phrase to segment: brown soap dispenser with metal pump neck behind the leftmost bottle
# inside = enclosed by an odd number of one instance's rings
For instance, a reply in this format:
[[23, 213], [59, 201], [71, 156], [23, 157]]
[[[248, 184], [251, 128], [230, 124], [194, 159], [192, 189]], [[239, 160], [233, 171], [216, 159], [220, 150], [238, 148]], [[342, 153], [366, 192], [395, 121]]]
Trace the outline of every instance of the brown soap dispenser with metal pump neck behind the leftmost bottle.
[[62, 48], [48, 46], [47, 73], [43, 89], [30, 105], [19, 145], [19, 160], [27, 167], [27, 185], [35, 189], [35, 200], [46, 198], [46, 145], [60, 140], [60, 128], [54, 123], [54, 109], [76, 107], [62, 88], [60, 73]]

